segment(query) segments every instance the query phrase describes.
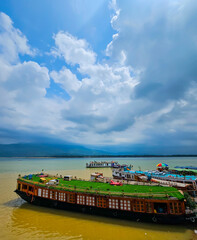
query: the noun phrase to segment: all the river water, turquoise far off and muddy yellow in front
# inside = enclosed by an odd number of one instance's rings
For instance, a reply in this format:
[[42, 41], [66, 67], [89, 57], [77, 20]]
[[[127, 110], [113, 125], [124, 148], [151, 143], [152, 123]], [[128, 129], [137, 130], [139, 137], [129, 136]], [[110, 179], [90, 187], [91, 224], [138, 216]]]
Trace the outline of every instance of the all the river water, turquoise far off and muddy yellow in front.
[[[197, 239], [197, 226], [170, 226], [126, 221], [83, 213], [33, 206], [13, 192], [18, 174], [45, 172], [72, 174], [89, 179], [95, 169], [86, 169], [92, 159], [1, 158], [0, 159], [0, 239], [78, 239], [78, 240], [190, 240]], [[107, 158], [132, 164], [134, 169], [155, 169], [157, 163], [197, 166], [197, 158]], [[111, 169], [100, 169], [111, 176]]]

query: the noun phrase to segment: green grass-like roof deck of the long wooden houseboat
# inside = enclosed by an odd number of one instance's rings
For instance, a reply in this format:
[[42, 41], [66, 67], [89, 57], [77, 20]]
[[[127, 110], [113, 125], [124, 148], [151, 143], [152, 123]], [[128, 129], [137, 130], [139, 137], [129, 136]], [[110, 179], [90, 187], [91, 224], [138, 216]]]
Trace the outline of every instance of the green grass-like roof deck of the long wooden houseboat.
[[[45, 179], [50, 180], [52, 178], [46, 177]], [[54, 178], [53, 178], [54, 179]], [[82, 193], [97, 193], [104, 195], [117, 195], [117, 196], [131, 196], [141, 198], [154, 198], [154, 199], [169, 199], [169, 197], [175, 197], [179, 200], [183, 200], [184, 196], [173, 187], [162, 187], [162, 186], [147, 186], [147, 185], [123, 185], [113, 186], [109, 183], [100, 183], [92, 181], [82, 180], [71, 180], [64, 181], [62, 178], [59, 179], [57, 186], [49, 186], [50, 189], [76, 191]], [[46, 186], [44, 183], [40, 183], [40, 178], [37, 175], [33, 175], [32, 180], [20, 178], [20, 180], [34, 183], [37, 186]]]

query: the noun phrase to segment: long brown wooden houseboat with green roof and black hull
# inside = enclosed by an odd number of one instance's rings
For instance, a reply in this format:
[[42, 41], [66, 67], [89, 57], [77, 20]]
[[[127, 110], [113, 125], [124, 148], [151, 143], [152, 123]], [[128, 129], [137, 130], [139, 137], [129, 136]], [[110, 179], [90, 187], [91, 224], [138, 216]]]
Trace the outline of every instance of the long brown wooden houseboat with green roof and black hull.
[[183, 194], [173, 187], [118, 186], [31, 174], [18, 177], [15, 192], [31, 204], [89, 214], [174, 224], [196, 220], [196, 215], [186, 208]]

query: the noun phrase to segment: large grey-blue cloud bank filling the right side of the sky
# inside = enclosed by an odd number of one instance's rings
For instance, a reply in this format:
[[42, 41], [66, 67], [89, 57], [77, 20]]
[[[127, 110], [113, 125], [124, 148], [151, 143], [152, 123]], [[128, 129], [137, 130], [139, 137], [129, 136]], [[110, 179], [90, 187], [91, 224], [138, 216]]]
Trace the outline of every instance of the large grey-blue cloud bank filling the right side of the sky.
[[114, 60], [126, 53], [124, 63], [139, 73], [130, 102], [135, 121], [127, 133], [137, 131], [141, 142], [183, 144], [196, 136], [196, 98], [188, 97], [196, 92], [196, 1], [112, 3], [117, 33], [106, 53]]

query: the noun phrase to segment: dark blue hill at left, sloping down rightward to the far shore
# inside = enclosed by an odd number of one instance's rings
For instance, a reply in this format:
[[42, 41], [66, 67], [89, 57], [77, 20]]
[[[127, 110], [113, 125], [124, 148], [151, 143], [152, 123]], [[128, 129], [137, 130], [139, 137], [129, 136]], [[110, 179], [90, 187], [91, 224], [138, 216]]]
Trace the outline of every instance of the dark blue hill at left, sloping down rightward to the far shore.
[[107, 154], [104, 151], [88, 149], [80, 145], [65, 144], [0, 144], [0, 157], [60, 157]]

